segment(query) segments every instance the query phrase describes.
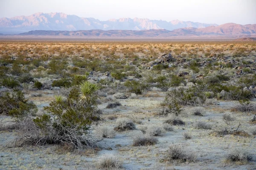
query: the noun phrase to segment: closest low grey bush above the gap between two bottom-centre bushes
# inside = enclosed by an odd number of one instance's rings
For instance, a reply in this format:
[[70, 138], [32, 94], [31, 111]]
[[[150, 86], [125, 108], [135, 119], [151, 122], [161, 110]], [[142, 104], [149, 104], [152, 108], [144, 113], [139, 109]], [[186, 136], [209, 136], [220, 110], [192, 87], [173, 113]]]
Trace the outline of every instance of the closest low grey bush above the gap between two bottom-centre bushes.
[[133, 146], [147, 146], [157, 144], [158, 139], [153, 136], [137, 136], [134, 138]]

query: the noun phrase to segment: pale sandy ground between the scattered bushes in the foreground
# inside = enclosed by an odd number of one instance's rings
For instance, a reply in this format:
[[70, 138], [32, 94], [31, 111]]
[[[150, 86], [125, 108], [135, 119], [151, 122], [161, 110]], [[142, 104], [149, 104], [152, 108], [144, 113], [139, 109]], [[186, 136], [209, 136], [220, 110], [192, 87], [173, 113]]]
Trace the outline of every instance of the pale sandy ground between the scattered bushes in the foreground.
[[[38, 93], [38, 92], [37, 92]], [[43, 92], [42, 92], [43, 93]], [[149, 92], [156, 93], [156, 92]], [[128, 117], [140, 120], [146, 126], [162, 127], [167, 119], [156, 115], [160, 109], [160, 103], [166, 92], [157, 92], [161, 97], [138, 97], [137, 99], [118, 99], [122, 104], [114, 109], [106, 109], [107, 103], [99, 105], [102, 109], [103, 121], [93, 125], [93, 134], [99, 134], [100, 127], [115, 127], [115, 120], [106, 119], [107, 114], [114, 113], [118, 117]], [[43, 106], [47, 106], [58, 91], [52, 91], [43, 97], [29, 97], [38, 105], [39, 112]], [[250, 132], [256, 125], [249, 123], [253, 117], [252, 113], [231, 112], [230, 108], [238, 102], [220, 101], [220, 105], [204, 106], [206, 113], [204, 116], [194, 116], [185, 113], [181, 119], [186, 122], [185, 126], [173, 126], [174, 131], [163, 132], [157, 136], [159, 142], [153, 146], [132, 147], [135, 136], [143, 135], [140, 130], [128, 130], [117, 132], [113, 139], [104, 139], [99, 145], [102, 150], [85, 150], [75, 153], [65, 153], [58, 146], [45, 145], [33, 147], [11, 147], [11, 142], [17, 136], [16, 132], [0, 132], [0, 169], [14, 170], [34, 170], [34, 169], [56, 169], [56, 170], [94, 170], [99, 156], [113, 154], [127, 170], [256, 170], [256, 136], [215, 136], [210, 133], [221, 127], [236, 128], [241, 123], [240, 128]], [[189, 110], [189, 108], [186, 108]], [[236, 118], [230, 125], [226, 125], [222, 120], [224, 113], [230, 113]], [[8, 117], [5, 117], [8, 119]], [[3, 119], [3, 117], [2, 117]], [[212, 125], [212, 130], [195, 129], [196, 122], [207, 122]], [[137, 126], [140, 126], [137, 124]], [[188, 132], [192, 139], [184, 139], [183, 133]], [[166, 156], [171, 144], [182, 146], [188, 153], [194, 153], [197, 157], [195, 162], [167, 164], [163, 159]], [[226, 163], [226, 154], [232, 148], [242, 148], [253, 153], [253, 161], [248, 164], [238, 165]]]

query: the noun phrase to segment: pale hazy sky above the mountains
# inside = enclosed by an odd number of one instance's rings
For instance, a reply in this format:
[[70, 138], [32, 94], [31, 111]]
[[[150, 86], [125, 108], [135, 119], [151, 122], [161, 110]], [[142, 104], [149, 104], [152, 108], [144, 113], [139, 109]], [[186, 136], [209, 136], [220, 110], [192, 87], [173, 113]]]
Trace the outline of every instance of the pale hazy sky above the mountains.
[[63, 12], [99, 20], [138, 17], [256, 24], [256, 0], [0, 0], [0, 17]]

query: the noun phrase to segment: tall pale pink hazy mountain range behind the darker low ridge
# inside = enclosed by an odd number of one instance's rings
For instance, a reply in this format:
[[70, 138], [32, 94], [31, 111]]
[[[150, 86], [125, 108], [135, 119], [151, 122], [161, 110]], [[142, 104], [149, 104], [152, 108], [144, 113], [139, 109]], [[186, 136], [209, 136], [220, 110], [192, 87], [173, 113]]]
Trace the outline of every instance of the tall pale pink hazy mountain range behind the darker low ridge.
[[30, 16], [0, 18], [0, 33], [20, 34], [31, 30], [78, 31], [78, 30], [149, 30], [166, 29], [172, 31], [178, 28], [205, 28], [217, 24], [195, 23], [191, 21], [149, 20], [142, 18], [119, 18], [100, 21], [95, 18], [83, 18], [64, 13], [35, 13]]

